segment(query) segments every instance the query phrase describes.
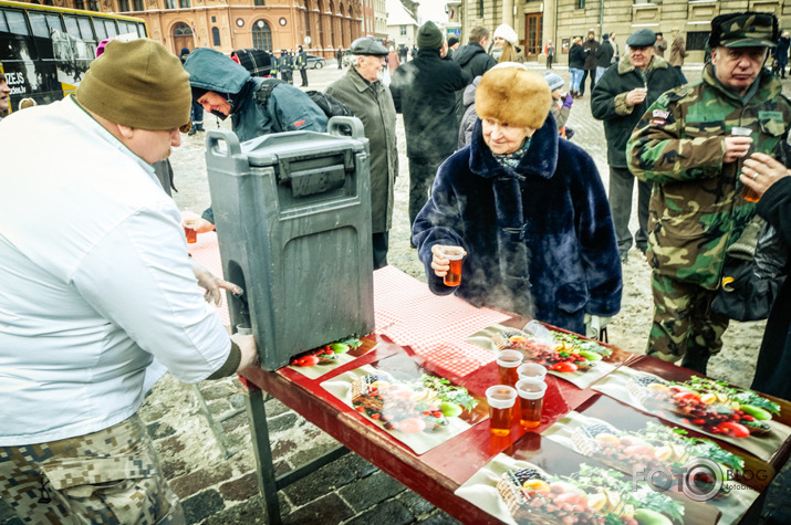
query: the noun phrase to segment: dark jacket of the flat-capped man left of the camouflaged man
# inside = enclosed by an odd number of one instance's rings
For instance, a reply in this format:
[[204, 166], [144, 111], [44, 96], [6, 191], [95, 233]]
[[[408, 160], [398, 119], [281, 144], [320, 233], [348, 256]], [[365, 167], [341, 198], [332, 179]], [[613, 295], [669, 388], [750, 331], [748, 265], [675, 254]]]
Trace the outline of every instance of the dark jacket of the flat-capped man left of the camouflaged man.
[[[625, 168], [626, 141], [643, 114], [659, 95], [685, 84], [680, 72], [659, 56], [654, 56], [645, 73], [632, 65], [624, 56], [616, 67], [610, 67], [596, 82], [591, 94], [591, 112], [594, 118], [604, 120], [607, 138], [607, 162]], [[648, 95], [639, 106], [626, 105], [626, 93], [635, 87], [648, 86]]]

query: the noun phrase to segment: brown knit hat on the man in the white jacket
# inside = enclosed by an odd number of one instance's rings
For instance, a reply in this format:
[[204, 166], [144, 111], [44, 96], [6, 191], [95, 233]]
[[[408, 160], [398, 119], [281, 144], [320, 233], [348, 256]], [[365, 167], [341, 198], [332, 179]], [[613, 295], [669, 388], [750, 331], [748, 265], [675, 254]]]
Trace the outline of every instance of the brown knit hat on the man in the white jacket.
[[181, 61], [158, 42], [108, 42], [76, 90], [81, 106], [115, 124], [175, 129], [189, 124], [192, 95]]

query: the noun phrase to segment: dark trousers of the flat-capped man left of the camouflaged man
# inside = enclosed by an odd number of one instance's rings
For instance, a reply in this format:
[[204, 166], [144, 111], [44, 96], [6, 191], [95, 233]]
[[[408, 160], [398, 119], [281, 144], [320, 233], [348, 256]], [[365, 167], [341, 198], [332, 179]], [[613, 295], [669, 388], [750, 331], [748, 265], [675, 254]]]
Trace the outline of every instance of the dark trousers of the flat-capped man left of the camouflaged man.
[[[610, 210], [615, 224], [615, 238], [618, 251], [623, 255], [632, 248], [629, 217], [632, 217], [632, 195], [635, 177], [628, 168], [610, 167]], [[651, 185], [637, 181], [637, 222], [639, 229], [634, 235], [637, 248], [645, 251], [648, 245], [648, 203], [651, 202]]]

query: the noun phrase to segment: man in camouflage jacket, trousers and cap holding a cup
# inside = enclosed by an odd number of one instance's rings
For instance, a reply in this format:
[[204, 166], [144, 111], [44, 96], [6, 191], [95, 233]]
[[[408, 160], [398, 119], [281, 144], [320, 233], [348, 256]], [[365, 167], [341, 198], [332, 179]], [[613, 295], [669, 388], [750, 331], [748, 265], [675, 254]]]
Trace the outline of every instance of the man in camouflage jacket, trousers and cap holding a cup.
[[[791, 102], [763, 67], [777, 41], [767, 13], [730, 13], [711, 22], [711, 63], [700, 82], [660, 96], [626, 150], [629, 169], [654, 183], [648, 259], [654, 322], [648, 354], [706, 372], [728, 318], [710, 312], [726, 249], [752, 219], [738, 176], [748, 154], [771, 154], [788, 138]], [[732, 136], [735, 127], [750, 137]]]

